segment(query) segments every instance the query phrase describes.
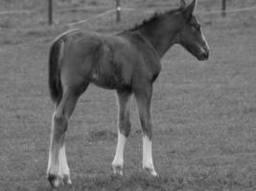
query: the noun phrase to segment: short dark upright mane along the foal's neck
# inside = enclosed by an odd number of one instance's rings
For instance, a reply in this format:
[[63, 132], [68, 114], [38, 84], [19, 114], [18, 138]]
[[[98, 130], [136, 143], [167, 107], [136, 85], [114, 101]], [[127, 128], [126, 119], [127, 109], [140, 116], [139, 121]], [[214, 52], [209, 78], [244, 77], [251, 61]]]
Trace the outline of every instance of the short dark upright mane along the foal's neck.
[[135, 24], [134, 27], [130, 28], [127, 30], [127, 32], [134, 32], [137, 31], [139, 29], [141, 29], [142, 27], [144, 27], [147, 24], [151, 24], [152, 22], [156, 21], [157, 19], [164, 17], [166, 14], [173, 14], [176, 11], [181, 11], [180, 8], [175, 9], [175, 10], [171, 10], [171, 11], [164, 11], [164, 12], [154, 12], [150, 18], [144, 19], [141, 23], [139, 24]]

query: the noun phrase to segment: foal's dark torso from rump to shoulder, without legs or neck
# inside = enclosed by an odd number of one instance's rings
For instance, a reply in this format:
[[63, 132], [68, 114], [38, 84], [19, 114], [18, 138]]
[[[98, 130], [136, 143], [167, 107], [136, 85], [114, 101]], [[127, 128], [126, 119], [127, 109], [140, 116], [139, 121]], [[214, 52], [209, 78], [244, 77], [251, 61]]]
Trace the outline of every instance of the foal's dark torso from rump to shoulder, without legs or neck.
[[124, 89], [138, 77], [151, 80], [159, 73], [154, 50], [132, 35], [75, 31], [60, 38], [65, 39], [63, 81], [90, 80], [106, 89]]

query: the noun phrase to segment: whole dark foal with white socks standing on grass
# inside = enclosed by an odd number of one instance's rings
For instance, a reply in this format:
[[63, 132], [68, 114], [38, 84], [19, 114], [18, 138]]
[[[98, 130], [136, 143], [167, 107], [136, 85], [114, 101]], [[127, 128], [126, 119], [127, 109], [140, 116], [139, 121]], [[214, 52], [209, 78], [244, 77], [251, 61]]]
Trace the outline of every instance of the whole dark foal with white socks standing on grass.
[[79, 96], [89, 83], [116, 90], [119, 106], [118, 143], [112, 162], [123, 175], [123, 153], [130, 131], [130, 98], [135, 96], [143, 132], [143, 168], [156, 176], [151, 156], [152, 83], [161, 70], [160, 59], [180, 44], [198, 60], [206, 60], [208, 45], [193, 15], [196, 0], [179, 9], [155, 14], [125, 32], [105, 35], [73, 30], [61, 34], [49, 56], [49, 87], [56, 111], [53, 115], [47, 179], [52, 186], [71, 183], [65, 153], [65, 131]]

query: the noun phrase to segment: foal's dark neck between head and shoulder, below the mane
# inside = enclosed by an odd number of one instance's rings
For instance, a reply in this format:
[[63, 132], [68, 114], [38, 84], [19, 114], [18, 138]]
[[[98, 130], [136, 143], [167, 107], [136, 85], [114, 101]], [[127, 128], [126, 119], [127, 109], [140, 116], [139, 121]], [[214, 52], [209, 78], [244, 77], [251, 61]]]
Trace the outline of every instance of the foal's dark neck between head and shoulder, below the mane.
[[178, 32], [182, 28], [181, 16], [169, 15], [168, 19], [159, 19], [147, 23], [138, 31], [147, 38], [159, 57], [162, 57], [175, 43], [178, 42]]

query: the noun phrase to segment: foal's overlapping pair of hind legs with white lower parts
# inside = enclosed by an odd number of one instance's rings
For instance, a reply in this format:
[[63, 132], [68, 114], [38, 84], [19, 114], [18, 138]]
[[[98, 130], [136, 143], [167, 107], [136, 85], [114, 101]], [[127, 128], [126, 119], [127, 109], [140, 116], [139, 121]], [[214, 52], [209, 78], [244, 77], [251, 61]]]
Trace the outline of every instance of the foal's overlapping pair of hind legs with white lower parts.
[[53, 115], [47, 179], [53, 187], [71, 183], [67, 164], [64, 137], [68, 127], [68, 119], [72, 115], [80, 94], [74, 89], [66, 89]]

